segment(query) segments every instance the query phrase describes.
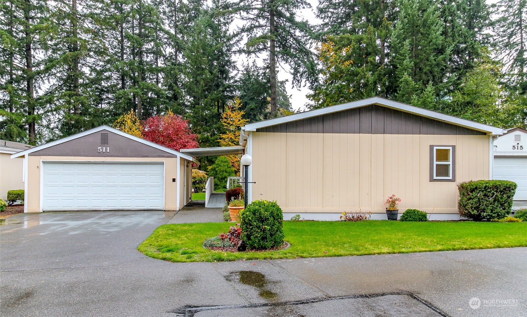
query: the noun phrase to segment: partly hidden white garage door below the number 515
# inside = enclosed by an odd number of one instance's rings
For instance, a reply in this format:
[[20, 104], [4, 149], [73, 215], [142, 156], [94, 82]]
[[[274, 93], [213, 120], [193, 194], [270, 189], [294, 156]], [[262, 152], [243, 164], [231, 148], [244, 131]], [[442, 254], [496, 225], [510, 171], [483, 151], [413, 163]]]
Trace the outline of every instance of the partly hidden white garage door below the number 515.
[[518, 184], [514, 200], [527, 200], [527, 157], [494, 157], [494, 179], [512, 180]]

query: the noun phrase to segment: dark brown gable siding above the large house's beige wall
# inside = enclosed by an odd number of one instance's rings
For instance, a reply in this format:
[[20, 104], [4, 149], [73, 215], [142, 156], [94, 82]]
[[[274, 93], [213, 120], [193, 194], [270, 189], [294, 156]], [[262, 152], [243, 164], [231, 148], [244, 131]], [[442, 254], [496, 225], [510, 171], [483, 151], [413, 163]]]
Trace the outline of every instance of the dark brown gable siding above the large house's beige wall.
[[390, 135], [485, 135], [485, 132], [380, 105], [349, 109], [258, 129], [257, 132], [373, 133]]

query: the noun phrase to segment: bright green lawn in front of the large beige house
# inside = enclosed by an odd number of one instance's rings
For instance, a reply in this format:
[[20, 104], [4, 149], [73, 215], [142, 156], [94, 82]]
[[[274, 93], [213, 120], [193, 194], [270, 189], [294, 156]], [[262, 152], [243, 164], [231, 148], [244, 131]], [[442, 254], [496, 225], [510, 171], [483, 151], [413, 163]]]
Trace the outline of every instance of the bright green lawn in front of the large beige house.
[[[162, 225], [138, 247], [171, 262], [323, 257], [527, 246], [527, 223], [491, 222], [284, 222], [288, 249], [220, 252], [204, 239], [227, 232], [230, 223]], [[327, 253], [325, 253], [327, 252]]]

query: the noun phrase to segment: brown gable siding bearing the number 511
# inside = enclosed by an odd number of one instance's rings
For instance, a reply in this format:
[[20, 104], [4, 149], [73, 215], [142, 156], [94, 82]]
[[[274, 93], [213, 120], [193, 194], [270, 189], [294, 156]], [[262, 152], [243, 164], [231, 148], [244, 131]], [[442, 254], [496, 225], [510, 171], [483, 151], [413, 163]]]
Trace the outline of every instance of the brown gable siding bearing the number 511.
[[[101, 133], [109, 134], [107, 146], [101, 146]], [[110, 152], [97, 152], [97, 148], [110, 148]], [[93, 157], [177, 157], [169, 152], [120, 136], [108, 130], [93, 132], [52, 147], [35, 151], [35, 156], [93, 156]]]

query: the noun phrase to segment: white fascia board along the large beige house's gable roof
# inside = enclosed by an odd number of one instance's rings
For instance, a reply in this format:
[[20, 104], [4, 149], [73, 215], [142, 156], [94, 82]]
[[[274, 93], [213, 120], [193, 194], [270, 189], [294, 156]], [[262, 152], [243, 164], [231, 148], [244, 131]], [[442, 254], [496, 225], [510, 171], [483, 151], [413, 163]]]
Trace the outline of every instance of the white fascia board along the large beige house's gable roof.
[[256, 129], [260, 129], [260, 128], [276, 126], [277, 124], [307, 119], [311, 117], [320, 116], [323, 114], [334, 113], [334, 112], [349, 110], [349, 109], [358, 108], [358, 107], [364, 107], [365, 105], [370, 105], [370, 104], [378, 104], [386, 108], [391, 108], [395, 110], [417, 114], [418, 116], [451, 123], [456, 126], [461, 126], [461, 127], [465, 127], [465, 128], [469, 128], [473, 130], [479, 130], [482, 132], [489, 133], [490, 135], [503, 135], [503, 129], [501, 128], [487, 126], [486, 124], [483, 124], [483, 123], [450, 116], [450, 114], [444, 114], [441, 112], [419, 108], [413, 105], [409, 105], [406, 103], [393, 101], [393, 100], [389, 100], [389, 99], [381, 98], [381, 97], [370, 97], [370, 98], [366, 98], [362, 100], [332, 105], [326, 108], [320, 108], [320, 109], [305, 111], [301, 113], [290, 114], [289, 116], [285, 116], [285, 117], [249, 123], [249, 124], [246, 124], [245, 127], [243, 127], [243, 129], [245, 131], [256, 131]]

